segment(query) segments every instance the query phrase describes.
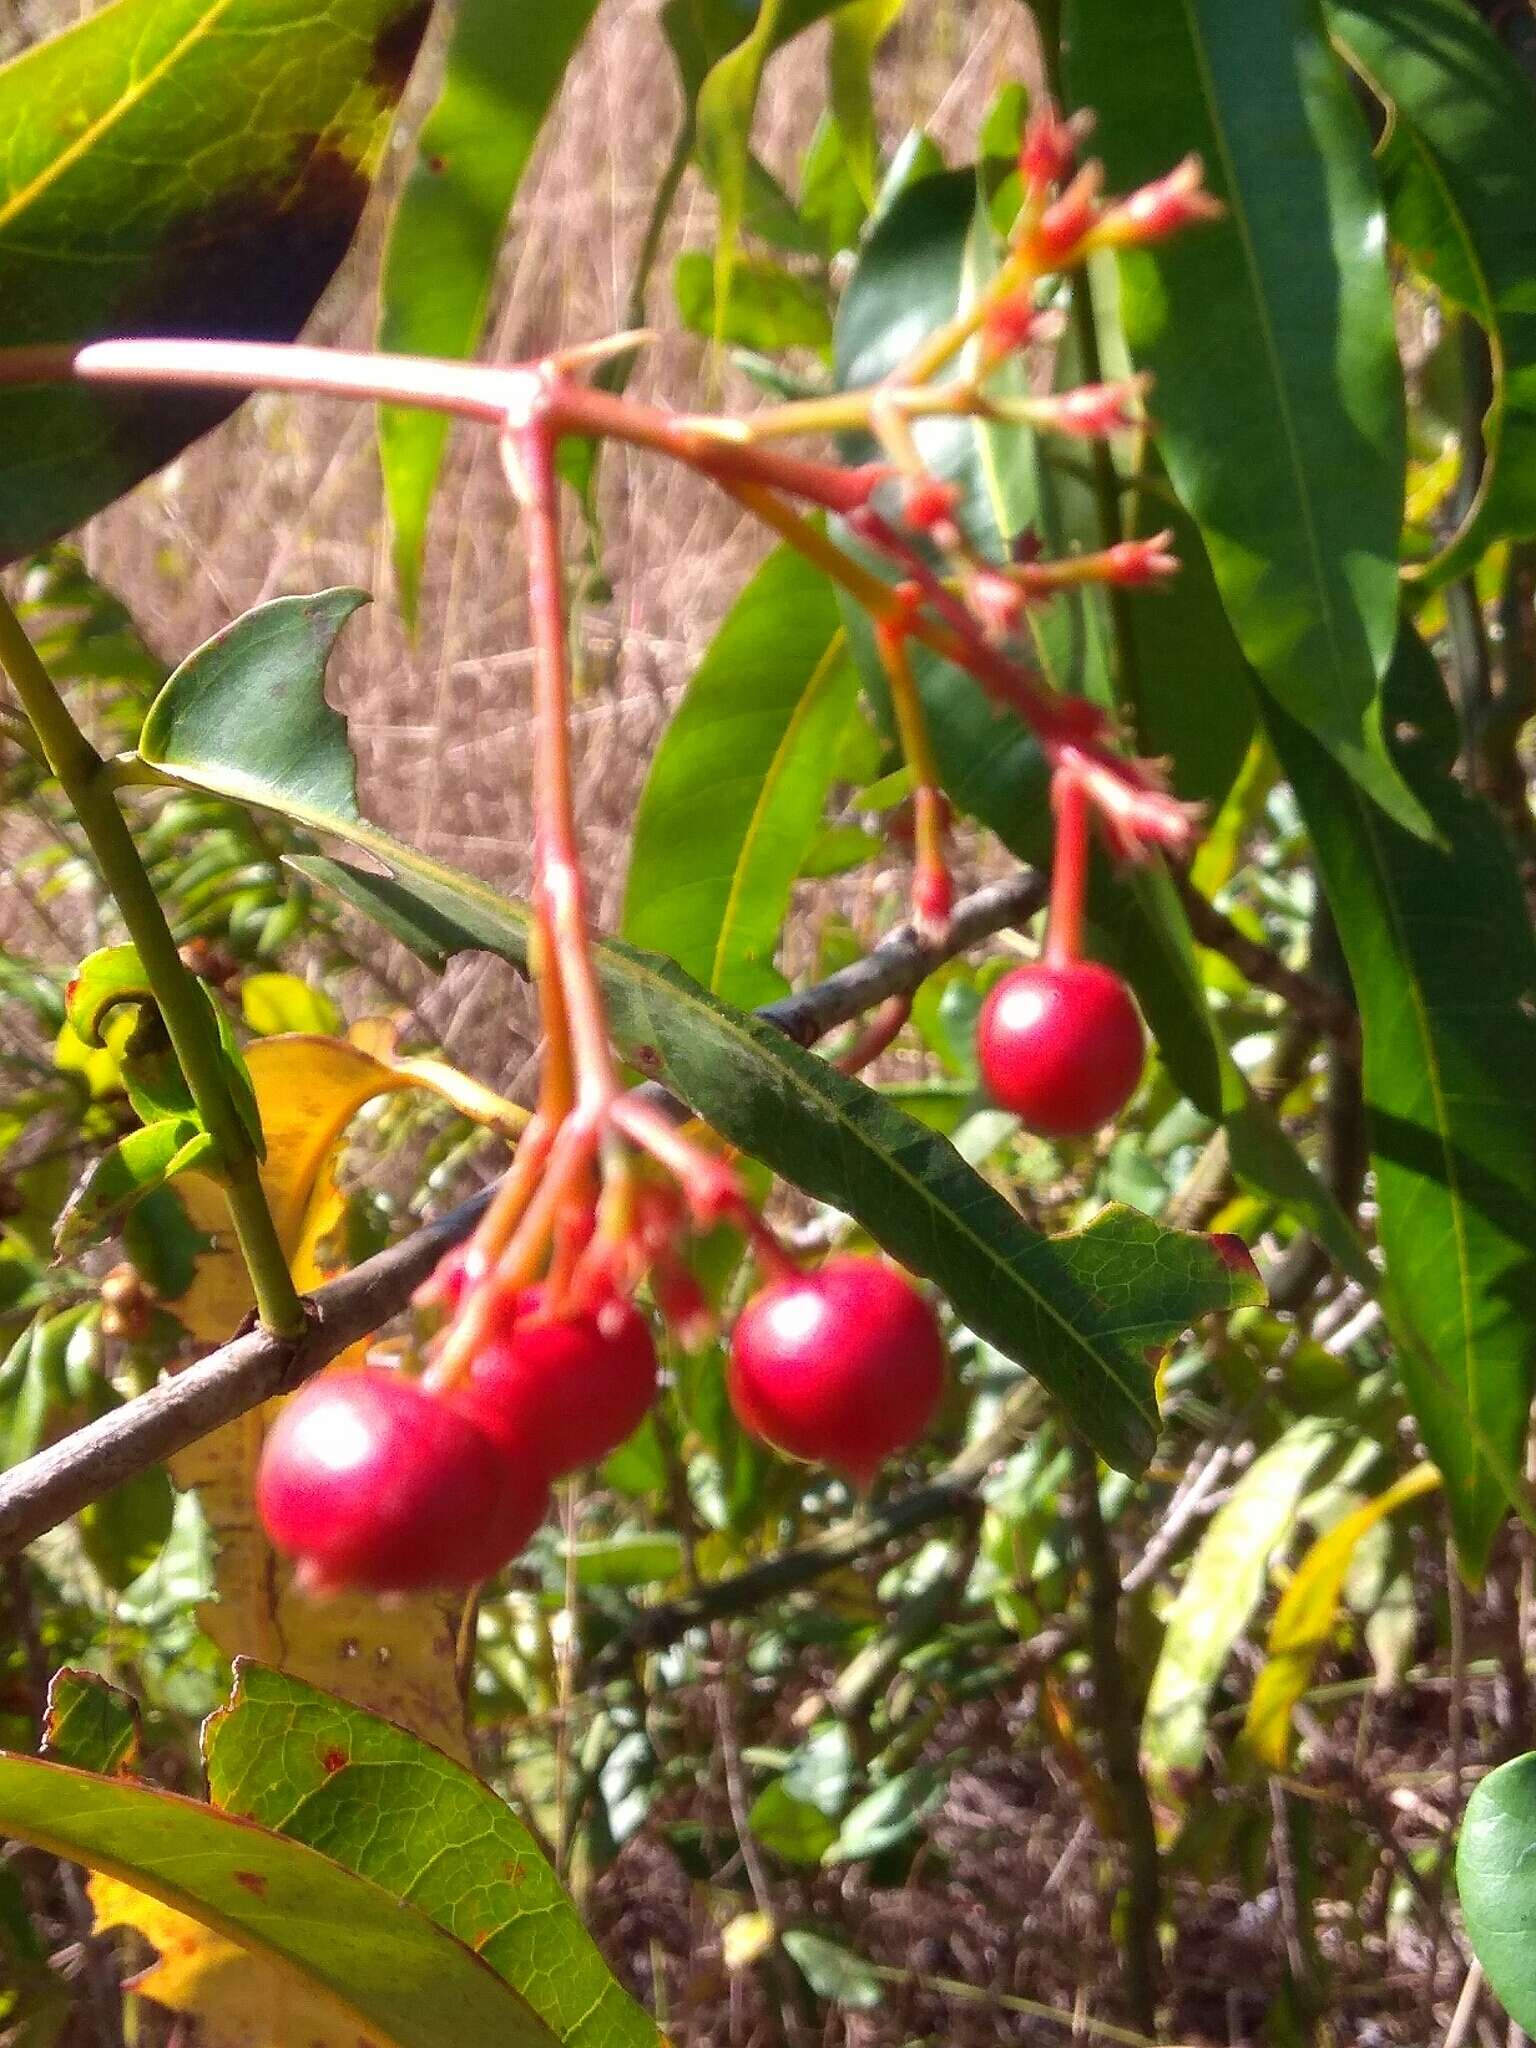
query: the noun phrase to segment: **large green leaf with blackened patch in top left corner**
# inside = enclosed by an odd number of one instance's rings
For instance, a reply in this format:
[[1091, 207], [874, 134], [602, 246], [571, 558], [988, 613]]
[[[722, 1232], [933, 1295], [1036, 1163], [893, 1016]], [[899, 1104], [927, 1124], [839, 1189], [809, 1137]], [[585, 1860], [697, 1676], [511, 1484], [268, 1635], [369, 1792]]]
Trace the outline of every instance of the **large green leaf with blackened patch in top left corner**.
[[[426, 0], [115, 0], [0, 68], [0, 346], [291, 342], [356, 229]], [[0, 391], [0, 559], [229, 399]]]

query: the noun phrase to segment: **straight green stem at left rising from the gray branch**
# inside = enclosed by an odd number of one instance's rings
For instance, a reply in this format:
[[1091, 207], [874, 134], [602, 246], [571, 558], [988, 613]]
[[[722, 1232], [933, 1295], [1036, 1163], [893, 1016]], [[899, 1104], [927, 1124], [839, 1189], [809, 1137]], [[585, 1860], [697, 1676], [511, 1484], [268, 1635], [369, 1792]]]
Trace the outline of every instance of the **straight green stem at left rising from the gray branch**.
[[274, 1335], [297, 1337], [305, 1327], [303, 1305], [293, 1286], [272, 1212], [266, 1206], [256, 1149], [229, 1094], [223, 1053], [209, 1028], [203, 989], [176, 950], [176, 940], [145, 874], [133, 834], [113, 797], [106, 764], [70, 717], [53, 678], [2, 594], [0, 668], [10, 676], [47, 764], [59, 778], [80, 829], [100, 862], [106, 887], [113, 891], [127, 934], [150, 977], [193, 1102], [219, 1147], [229, 1214], [256, 1294], [256, 1313]]

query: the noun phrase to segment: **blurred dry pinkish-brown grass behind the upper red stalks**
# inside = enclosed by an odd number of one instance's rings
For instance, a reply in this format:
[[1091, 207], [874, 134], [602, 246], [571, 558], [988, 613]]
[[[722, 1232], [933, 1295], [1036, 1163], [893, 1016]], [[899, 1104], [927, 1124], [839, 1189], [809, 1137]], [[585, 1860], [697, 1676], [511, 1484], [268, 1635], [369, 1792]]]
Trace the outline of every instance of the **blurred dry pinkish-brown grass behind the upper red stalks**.
[[[74, 18], [33, 0], [20, 31]], [[524, 182], [485, 352], [514, 358], [623, 319], [635, 256], [678, 119], [655, 6], [608, 0]], [[12, 23], [12, 33], [16, 33]], [[913, 0], [881, 57], [889, 133], [930, 121], [956, 152], [991, 92], [1026, 66], [1014, 0]], [[784, 51], [768, 80], [758, 143], [793, 176], [823, 104], [823, 35]], [[430, 92], [430, 63], [418, 98]], [[389, 190], [311, 334], [367, 342]], [[711, 233], [711, 197], [690, 178], [651, 287], [662, 338], [635, 389], [696, 403], [709, 365], [680, 332], [670, 254]], [[725, 397], [750, 401], [727, 373]], [[90, 565], [121, 590], [150, 641], [178, 657], [246, 606], [281, 592], [360, 584], [377, 602], [346, 633], [334, 700], [346, 711], [367, 811], [440, 858], [520, 889], [528, 870], [528, 649], [516, 547], [485, 436], [459, 434], [436, 508], [422, 631], [391, 602], [373, 420], [334, 403], [262, 397], [86, 530]], [[582, 618], [586, 696], [575, 715], [580, 811], [600, 915], [623, 893], [629, 821], [668, 707], [733, 592], [764, 551], [696, 477], [612, 451], [602, 489], [612, 600]], [[397, 973], [410, 969], [395, 961]], [[422, 991], [446, 1049], [514, 1081], [528, 1004], [485, 958], [455, 963]]]

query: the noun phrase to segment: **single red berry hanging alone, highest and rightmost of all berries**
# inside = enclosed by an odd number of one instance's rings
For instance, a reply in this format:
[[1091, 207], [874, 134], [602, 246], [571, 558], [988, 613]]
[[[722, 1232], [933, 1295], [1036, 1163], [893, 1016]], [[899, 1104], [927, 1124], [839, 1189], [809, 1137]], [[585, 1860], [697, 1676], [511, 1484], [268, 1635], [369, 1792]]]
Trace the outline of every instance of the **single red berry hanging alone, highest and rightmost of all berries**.
[[1141, 1018], [1098, 961], [1040, 961], [991, 989], [977, 1024], [987, 1094], [1047, 1139], [1085, 1137], [1118, 1116], [1145, 1061]]

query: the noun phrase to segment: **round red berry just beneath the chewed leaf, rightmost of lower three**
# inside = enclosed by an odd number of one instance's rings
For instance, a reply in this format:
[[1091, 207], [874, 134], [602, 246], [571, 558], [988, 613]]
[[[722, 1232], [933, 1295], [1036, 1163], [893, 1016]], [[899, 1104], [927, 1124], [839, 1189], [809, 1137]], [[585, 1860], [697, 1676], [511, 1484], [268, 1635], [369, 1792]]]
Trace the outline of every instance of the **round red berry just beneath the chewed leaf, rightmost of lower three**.
[[754, 1436], [866, 1485], [944, 1393], [944, 1339], [918, 1288], [844, 1253], [770, 1280], [731, 1333], [731, 1407]]

